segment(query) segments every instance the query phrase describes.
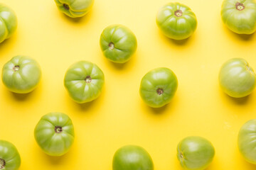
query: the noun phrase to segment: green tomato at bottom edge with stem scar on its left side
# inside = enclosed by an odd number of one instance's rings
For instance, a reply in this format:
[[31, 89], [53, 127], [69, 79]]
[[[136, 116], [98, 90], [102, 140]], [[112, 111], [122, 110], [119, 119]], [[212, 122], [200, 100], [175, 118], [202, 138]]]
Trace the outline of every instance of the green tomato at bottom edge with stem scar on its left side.
[[213, 145], [203, 137], [186, 137], [178, 143], [177, 158], [183, 169], [206, 169], [214, 155]]

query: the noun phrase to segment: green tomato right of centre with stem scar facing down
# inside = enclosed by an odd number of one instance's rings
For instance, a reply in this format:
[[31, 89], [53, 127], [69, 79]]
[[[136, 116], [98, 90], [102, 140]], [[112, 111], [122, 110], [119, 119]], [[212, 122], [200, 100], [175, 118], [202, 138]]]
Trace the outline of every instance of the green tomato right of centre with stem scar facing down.
[[142, 78], [139, 94], [147, 105], [160, 108], [171, 101], [177, 88], [178, 80], [174, 72], [161, 67], [151, 70]]

